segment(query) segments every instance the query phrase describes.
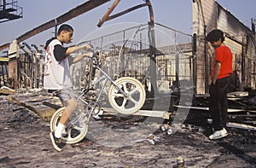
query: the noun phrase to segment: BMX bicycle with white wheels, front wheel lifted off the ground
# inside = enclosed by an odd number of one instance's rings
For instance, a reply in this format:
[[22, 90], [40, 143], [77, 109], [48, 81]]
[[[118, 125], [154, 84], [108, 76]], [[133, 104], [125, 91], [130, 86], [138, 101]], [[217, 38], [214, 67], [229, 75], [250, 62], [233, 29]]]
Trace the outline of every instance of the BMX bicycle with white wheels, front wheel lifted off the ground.
[[[91, 116], [96, 116], [100, 113], [101, 106], [98, 103], [102, 96], [102, 91], [106, 87], [108, 81], [111, 85], [108, 90], [108, 101], [110, 106], [115, 111], [122, 114], [136, 113], [145, 102], [146, 92], [143, 84], [136, 78], [122, 77], [113, 81], [113, 78], [109, 77], [107, 72], [104, 72], [101, 68], [101, 61], [99, 61], [99, 52], [95, 52], [91, 57], [91, 62], [96, 69], [101, 72], [102, 76], [96, 79], [95, 82], [88, 87], [81, 90], [81, 93], [77, 95], [78, 107], [75, 112], [70, 116], [66, 125], [66, 136], [62, 136], [65, 142], [73, 144], [80, 142], [86, 136], [88, 131], [88, 124]], [[86, 101], [84, 96], [94, 89], [96, 84], [102, 82], [102, 89], [96, 101]], [[61, 107], [53, 114], [50, 120], [50, 130], [55, 130], [56, 125], [59, 123], [61, 114], [65, 107]]]

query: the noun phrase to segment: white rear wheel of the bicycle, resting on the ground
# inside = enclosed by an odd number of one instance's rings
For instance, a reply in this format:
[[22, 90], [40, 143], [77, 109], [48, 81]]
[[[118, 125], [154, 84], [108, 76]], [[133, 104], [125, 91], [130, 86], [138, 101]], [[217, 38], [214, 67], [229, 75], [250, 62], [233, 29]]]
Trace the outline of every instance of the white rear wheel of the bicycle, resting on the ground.
[[[55, 130], [64, 110], [65, 107], [61, 107], [53, 114], [50, 119], [50, 131]], [[63, 135], [62, 139], [68, 144], [77, 143], [84, 139], [84, 136], [88, 131], [88, 119], [84, 115], [84, 113], [80, 113], [79, 110], [76, 110], [67, 121], [67, 135]]]

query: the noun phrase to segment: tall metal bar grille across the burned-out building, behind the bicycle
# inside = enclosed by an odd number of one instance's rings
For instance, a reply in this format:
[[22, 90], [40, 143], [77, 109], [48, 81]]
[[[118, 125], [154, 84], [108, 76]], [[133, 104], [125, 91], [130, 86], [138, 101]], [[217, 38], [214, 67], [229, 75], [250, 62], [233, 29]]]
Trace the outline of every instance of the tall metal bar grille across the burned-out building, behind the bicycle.
[[[102, 68], [111, 77], [131, 76], [143, 81], [150, 76], [151, 28], [148, 24], [134, 26], [83, 43], [101, 51]], [[155, 24], [154, 32], [157, 87], [160, 92], [169, 92], [173, 84], [192, 80], [192, 36], [160, 24]], [[84, 67], [86, 62], [80, 64]], [[74, 68], [80, 74], [84, 71]]]

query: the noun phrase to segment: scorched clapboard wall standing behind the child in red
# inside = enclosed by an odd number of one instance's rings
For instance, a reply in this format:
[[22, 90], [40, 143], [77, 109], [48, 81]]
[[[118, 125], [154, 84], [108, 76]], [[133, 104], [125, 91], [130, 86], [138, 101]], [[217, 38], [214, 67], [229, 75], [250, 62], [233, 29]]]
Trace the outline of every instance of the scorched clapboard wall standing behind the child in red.
[[254, 89], [255, 42], [253, 32], [214, 0], [198, 0], [193, 3], [193, 32], [197, 37], [196, 92], [198, 94], [208, 92], [214, 49], [206, 42], [205, 37], [208, 32], [216, 28], [224, 32], [224, 43], [233, 53], [232, 90]]

